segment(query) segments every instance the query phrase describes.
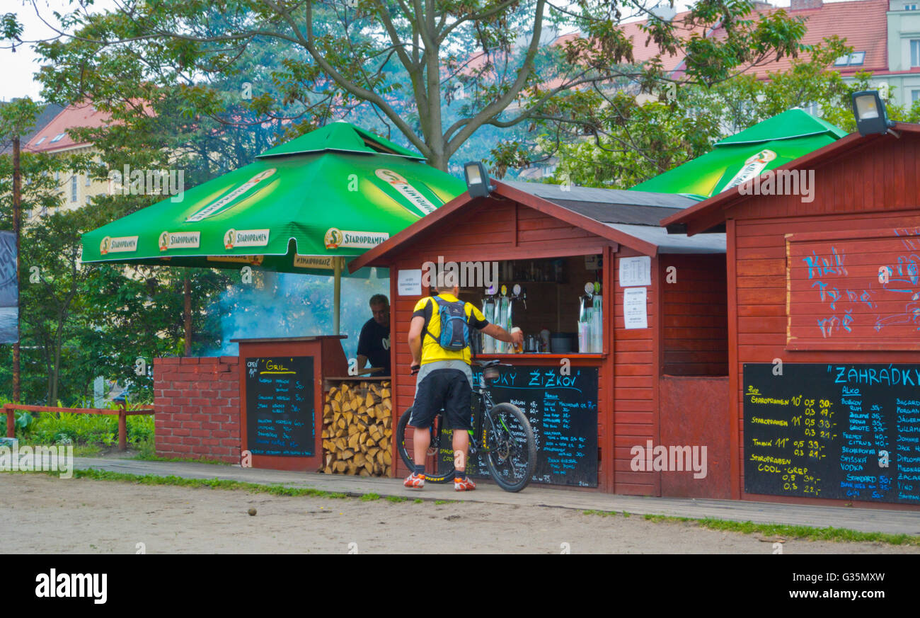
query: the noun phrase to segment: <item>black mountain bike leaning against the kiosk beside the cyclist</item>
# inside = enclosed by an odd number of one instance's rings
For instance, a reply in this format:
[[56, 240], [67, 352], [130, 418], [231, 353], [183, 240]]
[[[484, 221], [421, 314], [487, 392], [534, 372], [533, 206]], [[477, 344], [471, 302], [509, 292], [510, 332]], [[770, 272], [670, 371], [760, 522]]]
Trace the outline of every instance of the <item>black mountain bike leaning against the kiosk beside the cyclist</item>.
[[[469, 431], [469, 453], [466, 459], [468, 474], [481, 473], [481, 463], [486, 467], [495, 482], [505, 491], [521, 491], [530, 483], [536, 469], [536, 442], [534, 430], [527, 417], [517, 406], [512, 404], [495, 404], [487, 383], [500, 378], [499, 367], [512, 367], [499, 360], [477, 360], [482, 368], [482, 376], [473, 390], [473, 429]], [[412, 408], [408, 408], [399, 418], [397, 425], [397, 450], [409, 470], [415, 464], [413, 453], [407, 441], [407, 432], [411, 437], [414, 429], [408, 429], [408, 419]], [[431, 483], [449, 483], [454, 479], [453, 434], [443, 428], [443, 410], [431, 423], [431, 444], [428, 455], [435, 457], [437, 470], [425, 472], [425, 480]]]

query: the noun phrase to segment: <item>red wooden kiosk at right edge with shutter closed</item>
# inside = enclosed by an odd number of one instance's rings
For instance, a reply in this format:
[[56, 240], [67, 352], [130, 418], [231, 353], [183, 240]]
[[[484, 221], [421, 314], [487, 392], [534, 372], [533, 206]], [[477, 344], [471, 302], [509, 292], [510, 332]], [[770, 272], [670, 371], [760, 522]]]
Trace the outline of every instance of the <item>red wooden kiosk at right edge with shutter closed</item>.
[[[781, 360], [787, 373], [788, 363], [826, 363], [856, 368], [858, 379], [865, 363], [920, 362], [920, 125], [853, 133], [779, 170], [813, 173], [811, 200], [730, 190], [661, 223], [689, 235], [727, 230], [731, 498], [839, 505], [839, 499], [745, 491], [753, 448], [743, 425], [746, 395], [748, 403], [753, 399], [743, 382], [745, 363]], [[874, 370], [866, 371], [868, 383], [877, 384]], [[912, 418], [920, 419], [899, 414], [899, 422]], [[912, 442], [891, 444], [892, 460], [897, 454], [920, 462], [920, 446], [914, 452]], [[889, 469], [881, 457], [872, 467], [873, 475]], [[865, 493], [855, 486], [848, 495], [856, 501]], [[920, 508], [866, 500], [859, 506]]]

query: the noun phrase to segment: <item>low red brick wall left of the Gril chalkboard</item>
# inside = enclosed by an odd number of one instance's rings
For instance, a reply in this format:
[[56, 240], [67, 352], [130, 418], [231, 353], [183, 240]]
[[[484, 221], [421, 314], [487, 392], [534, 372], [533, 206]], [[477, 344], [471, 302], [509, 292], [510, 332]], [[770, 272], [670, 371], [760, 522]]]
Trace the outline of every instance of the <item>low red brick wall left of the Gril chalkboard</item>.
[[154, 359], [160, 457], [239, 463], [239, 358]]

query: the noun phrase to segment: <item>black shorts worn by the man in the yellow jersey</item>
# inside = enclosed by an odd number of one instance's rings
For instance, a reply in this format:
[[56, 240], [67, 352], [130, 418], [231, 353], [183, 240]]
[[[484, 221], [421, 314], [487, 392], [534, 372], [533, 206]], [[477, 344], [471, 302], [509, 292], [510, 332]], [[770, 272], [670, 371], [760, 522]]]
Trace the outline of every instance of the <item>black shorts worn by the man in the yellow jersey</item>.
[[419, 429], [431, 427], [431, 421], [444, 409], [447, 429], [473, 429], [473, 390], [466, 373], [458, 369], [436, 369], [422, 378], [412, 404], [408, 424]]

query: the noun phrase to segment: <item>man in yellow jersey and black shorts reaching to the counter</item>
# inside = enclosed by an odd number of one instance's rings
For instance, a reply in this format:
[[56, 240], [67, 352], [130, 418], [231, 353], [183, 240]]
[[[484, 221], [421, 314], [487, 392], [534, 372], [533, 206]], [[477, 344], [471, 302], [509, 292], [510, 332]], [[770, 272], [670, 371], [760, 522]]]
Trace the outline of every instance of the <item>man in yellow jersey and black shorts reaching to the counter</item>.
[[[469, 449], [470, 410], [473, 397], [473, 372], [470, 370], [469, 342], [464, 349], [444, 349], [441, 337], [440, 308], [435, 296], [447, 303], [457, 303], [460, 288], [438, 292], [416, 303], [408, 330], [408, 348], [412, 353], [412, 372], [419, 372], [416, 381], [415, 402], [408, 424], [415, 428], [413, 434], [413, 459], [415, 470], [408, 475], [404, 485], [420, 489], [425, 485], [425, 456], [431, 443], [429, 428], [441, 408], [444, 409], [446, 427], [454, 430], [454, 489], [468, 491], [476, 484], [466, 478], [466, 453]], [[501, 326], [489, 324], [473, 304], [464, 303], [466, 323], [500, 341], [523, 343], [523, 333], [513, 335]], [[462, 453], [458, 455], [457, 453]]]

